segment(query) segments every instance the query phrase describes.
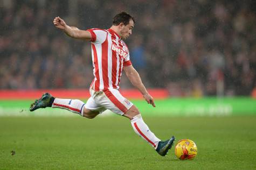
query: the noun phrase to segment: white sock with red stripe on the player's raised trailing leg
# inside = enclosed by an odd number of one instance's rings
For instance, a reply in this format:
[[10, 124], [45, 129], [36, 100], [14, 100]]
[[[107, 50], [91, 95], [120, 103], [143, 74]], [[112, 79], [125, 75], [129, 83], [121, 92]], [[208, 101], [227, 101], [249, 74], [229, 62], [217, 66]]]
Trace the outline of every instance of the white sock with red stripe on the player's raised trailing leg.
[[80, 100], [55, 98], [52, 103], [52, 108], [66, 109], [72, 111], [75, 114], [83, 116], [85, 103]]

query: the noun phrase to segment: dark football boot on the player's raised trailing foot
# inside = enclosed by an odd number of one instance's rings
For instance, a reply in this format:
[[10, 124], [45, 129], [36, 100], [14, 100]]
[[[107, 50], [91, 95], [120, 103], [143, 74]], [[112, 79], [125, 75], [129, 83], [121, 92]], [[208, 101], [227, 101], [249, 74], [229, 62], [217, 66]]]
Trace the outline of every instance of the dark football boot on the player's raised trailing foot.
[[45, 93], [45, 94], [43, 94], [43, 96], [41, 98], [34, 101], [34, 103], [32, 103], [30, 105], [29, 110], [34, 111], [34, 110], [37, 110], [39, 108], [52, 107], [53, 101], [54, 101], [54, 97], [52, 97], [52, 95], [49, 94], [49, 93]]

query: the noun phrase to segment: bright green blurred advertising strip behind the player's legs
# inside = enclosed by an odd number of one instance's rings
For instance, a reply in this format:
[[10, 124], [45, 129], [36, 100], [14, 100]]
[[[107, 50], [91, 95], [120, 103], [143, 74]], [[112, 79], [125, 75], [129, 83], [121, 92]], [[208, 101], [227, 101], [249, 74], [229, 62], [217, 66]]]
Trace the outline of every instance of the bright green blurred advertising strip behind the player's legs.
[[[86, 102], [85, 99], [82, 101]], [[206, 98], [168, 98], [155, 100], [156, 108], [144, 100], [131, 100], [147, 116], [231, 116], [255, 115], [256, 100], [250, 97], [206, 97]], [[66, 116], [62, 111], [53, 109], [30, 112], [33, 100], [0, 100], [0, 116]]]

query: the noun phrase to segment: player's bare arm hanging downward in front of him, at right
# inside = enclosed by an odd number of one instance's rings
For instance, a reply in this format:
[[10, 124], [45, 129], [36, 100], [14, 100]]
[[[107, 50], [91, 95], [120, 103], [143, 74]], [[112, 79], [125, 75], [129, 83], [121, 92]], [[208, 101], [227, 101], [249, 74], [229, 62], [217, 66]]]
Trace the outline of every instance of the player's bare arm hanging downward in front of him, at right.
[[154, 98], [148, 93], [146, 87], [141, 81], [139, 73], [135, 70], [135, 68], [132, 65], [130, 65], [123, 67], [123, 69], [130, 82], [133, 84], [134, 87], [140, 90], [141, 94], [143, 95], [144, 99], [148, 102], [148, 104], [151, 104], [153, 105], [153, 107], [156, 107], [154, 103]]

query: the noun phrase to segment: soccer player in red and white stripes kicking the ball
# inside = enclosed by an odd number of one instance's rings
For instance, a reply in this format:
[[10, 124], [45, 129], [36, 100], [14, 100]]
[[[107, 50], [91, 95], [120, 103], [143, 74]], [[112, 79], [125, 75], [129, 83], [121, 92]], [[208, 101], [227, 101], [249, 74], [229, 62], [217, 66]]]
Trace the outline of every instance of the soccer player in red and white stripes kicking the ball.
[[117, 115], [129, 118], [135, 133], [153, 146], [158, 154], [166, 155], [174, 144], [175, 137], [165, 141], [158, 139], [149, 130], [135, 105], [119, 92], [120, 77], [124, 70], [133, 86], [155, 107], [154, 99], [134, 69], [128, 47], [123, 41], [132, 34], [135, 19], [126, 12], [118, 13], [113, 18], [113, 25], [107, 30], [79, 30], [77, 27], [68, 26], [60, 17], [54, 18], [53, 24], [71, 38], [91, 41], [94, 74], [89, 89], [91, 97], [85, 104], [80, 100], [62, 99], [45, 93], [31, 104], [30, 111], [46, 107], [61, 108], [91, 119], [109, 109]]

